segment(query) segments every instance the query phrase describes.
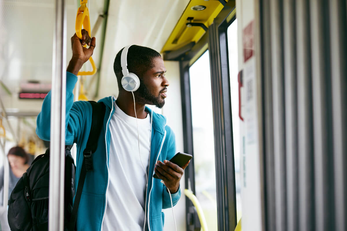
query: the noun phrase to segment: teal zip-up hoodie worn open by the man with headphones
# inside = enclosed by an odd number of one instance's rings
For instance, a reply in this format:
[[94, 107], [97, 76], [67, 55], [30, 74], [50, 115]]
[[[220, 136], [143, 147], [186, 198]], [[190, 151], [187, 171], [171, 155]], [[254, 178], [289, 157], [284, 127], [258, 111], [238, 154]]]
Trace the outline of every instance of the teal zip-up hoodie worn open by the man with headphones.
[[[65, 143], [77, 144], [76, 178], [78, 182], [83, 162], [83, 150], [86, 147], [91, 120], [92, 107], [86, 101], [74, 102], [73, 89], [77, 82], [77, 76], [67, 72], [66, 74], [66, 132]], [[109, 121], [115, 111], [113, 96], [99, 100], [106, 105], [103, 129], [98, 140], [98, 149], [92, 155], [92, 172], [87, 172], [83, 186], [81, 202], [77, 214], [77, 230], [95, 231], [102, 230], [102, 223], [107, 210], [107, 190], [109, 185], [108, 167], [110, 150]], [[146, 107], [146, 112], [151, 110]], [[42, 110], [37, 116], [36, 134], [43, 140], [50, 140], [50, 119], [51, 119], [51, 92], [43, 100]], [[166, 118], [153, 112], [152, 124], [152, 144], [150, 156], [150, 174], [146, 194], [146, 217], [149, 223], [149, 230], [163, 230], [164, 213], [163, 208], [171, 207], [170, 195], [160, 179], [153, 178], [154, 164], [156, 161], [169, 160], [176, 152], [175, 135], [171, 128], [166, 125]], [[119, 187], [122, 187], [119, 185]], [[76, 184], [77, 188], [77, 184]], [[181, 196], [180, 189], [177, 193], [171, 194], [172, 204], [175, 205]], [[129, 204], [129, 206], [132, 206]]]

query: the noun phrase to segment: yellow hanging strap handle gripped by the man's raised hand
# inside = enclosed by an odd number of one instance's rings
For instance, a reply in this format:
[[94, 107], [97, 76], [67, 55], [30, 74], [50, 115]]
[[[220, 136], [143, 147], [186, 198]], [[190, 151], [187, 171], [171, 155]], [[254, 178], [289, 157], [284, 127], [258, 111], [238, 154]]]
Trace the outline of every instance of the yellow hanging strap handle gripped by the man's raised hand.
[[[79, 39], [82, 39], [82, 25], [83, 28], [88, 32], [89, 36], [91, 36], [90, 18], [87, 2], [88, 0], [80, 0], [79, 3], [81, 4], [81, 7], [77, 9], [75, 30], [76, 35]], [[86, 47], [87, 45], [84, 46]], [[93, 75], [96, 73], [96, 66], [92, 56], [89, 58], [89, 61], [92, 64], [93, 71], [80, 71], [77, 75]]]

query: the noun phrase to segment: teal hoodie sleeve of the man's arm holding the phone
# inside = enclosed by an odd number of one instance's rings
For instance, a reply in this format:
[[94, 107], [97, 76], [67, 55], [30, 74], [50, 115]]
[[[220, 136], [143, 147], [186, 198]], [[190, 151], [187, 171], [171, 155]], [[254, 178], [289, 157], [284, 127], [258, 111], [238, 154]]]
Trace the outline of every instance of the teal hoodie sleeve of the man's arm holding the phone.
[[[167, 152], [167, 159], [169, 160], [173, 156], [175, 156], [176, 141], [175, 141], [175, 134], [171, 131], [171, 128], [169, 128], [168, 133], [170, 133], [168, 134], [170, 139], [169, 139], [169, 147]], [[172, 205], [176, 205], [180, 197], [181, 197], [181, 187], [178, 188], [176, 193], [171, 194]], [[164, 184], [163, 184], [163, 208], [171, 208], [170, 194]]]

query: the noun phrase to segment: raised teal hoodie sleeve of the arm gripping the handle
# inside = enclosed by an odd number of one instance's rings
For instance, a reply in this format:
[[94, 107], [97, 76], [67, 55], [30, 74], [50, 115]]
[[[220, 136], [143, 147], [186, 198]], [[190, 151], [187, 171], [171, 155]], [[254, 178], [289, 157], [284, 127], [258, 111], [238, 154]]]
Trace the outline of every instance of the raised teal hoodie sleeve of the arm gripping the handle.
[[[65, 144], [76, 142], [81, 125], [84, 121], [86, 104], [74, 103], [73, 90], [77, 82], [77, 76], [66, 72], [66, 110], [65, 110]], [[42, 140], [50, 141], [51, 133], [51, 91], [43, 100], [42, 109], [36, 119], [36, 134]]]

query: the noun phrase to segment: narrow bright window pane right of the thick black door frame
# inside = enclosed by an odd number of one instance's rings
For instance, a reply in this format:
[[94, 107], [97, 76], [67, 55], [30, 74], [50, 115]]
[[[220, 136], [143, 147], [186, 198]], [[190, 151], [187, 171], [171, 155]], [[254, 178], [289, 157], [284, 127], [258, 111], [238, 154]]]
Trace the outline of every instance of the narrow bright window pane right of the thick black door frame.
[[237, 56], [237, 19], [235, 19], [227, 30], [228, 57], [230, 76], [230, 97], [232, 114], [232, 134], [234, 143], [235, 160], [235, 184], [236, 184], [236, 214], [237, 221], [241, 218], [241, 178], [240, 178], [240, 124], [238, 117], [238, 56]]

